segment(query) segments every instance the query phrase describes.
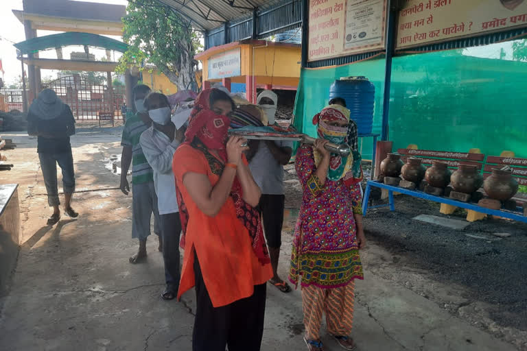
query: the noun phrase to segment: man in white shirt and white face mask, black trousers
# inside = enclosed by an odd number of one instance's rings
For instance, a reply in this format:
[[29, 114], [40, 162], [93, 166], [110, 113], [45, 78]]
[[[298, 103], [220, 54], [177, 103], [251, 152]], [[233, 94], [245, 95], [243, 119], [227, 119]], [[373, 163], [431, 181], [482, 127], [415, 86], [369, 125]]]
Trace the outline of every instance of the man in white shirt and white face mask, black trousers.
[[145, 108], [152, 119], [152, 127], [141, 134], [141, 148], [152, 169], [158, 197], [161, 235], [163, 236], [163, 259], [165, 261], [165, 291], [163, 300], [176, 298], [179, 288], [179, 238], [181, 221], [176, 199], [176, 182], [172, 171], [172, 159], [176, 148], [185, 136], [185, 120], [171, 121], [168, 99], [161, 93], [150, 93], [145, 99]]

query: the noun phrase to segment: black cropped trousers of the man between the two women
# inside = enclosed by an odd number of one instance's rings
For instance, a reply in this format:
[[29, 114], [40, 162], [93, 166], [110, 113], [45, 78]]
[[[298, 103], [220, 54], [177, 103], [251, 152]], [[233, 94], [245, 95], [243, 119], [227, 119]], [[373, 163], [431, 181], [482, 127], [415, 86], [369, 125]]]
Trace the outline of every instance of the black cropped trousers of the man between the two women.
[[264, 223], [267, 245], [272, 249], [279, 249], [282, 245], [283, 209], [285, 195], [262, 194], [258, 204]]

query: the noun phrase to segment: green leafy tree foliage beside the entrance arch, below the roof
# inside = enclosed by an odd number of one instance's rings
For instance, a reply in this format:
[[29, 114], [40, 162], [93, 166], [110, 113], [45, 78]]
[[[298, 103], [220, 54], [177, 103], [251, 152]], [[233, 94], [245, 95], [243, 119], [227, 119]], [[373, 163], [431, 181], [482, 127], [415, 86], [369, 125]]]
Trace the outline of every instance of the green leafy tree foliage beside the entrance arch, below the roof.
[[126, 12], [123, 38], [130, 47], [119, 59], [117, 71], [154, 64], [178, 89], [195, 85], [194, 54], [200, 49], [200, 36], [189, 21], [155, 0], [130, 2]]

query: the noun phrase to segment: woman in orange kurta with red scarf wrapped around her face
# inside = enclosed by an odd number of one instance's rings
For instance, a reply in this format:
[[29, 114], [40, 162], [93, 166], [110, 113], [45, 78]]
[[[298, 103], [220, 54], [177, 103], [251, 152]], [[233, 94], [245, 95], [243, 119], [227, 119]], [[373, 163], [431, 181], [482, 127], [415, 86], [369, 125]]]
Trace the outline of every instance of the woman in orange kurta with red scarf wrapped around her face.
[[272, 276], [257, 206], [260, 190], [243, 156], [246, 141], [227, 141], [232, 99], [204, 90], [186, 142], [174, 154], [185, 237], [178, 298], [196, 287], [193, 351], [259, 351], [266, 281]]

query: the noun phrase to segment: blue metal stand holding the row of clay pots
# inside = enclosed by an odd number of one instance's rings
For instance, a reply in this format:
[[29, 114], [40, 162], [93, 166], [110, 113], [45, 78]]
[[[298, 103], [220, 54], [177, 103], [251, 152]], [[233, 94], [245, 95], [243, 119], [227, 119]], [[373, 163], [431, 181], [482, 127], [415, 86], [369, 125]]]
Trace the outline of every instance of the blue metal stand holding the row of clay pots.
[[[370, 193], [371, 193], [371, 187], [376, 186], [377, 188], [386, 189], [388, 190], [388, 204], [378, 205], [378, 206], [368, 206], [368, 200], [370, 199]], [[395, 210], [395, 203], [393, 201], [393, 192], [397, 191], [397, 193], [410, 195], [413, 197], [419, 197], [421, 199], [430, 200], [434, 202], [439, 202], [441, 204], [448, 204], [460, 208], [465, 208], [467, 210], [474, 210], [479, 213], [484, 213], [485, 215], [493, 215], [508, 219], [514, 219], [515, 221], [521, 221], [524, 223], [527, 223], [527, 217], [524, 216], [523, 208], [517, 207], [515, 211], [511, 210], [492, 210], [491, 208], [484, 208], [481, 206], [478, 206], [477, 204], [471, 204], [469, 202], [461, 202], [458, 200], [450, 199], [449, 197], [441, 197], [441, 196], [434, 196], [427, 193], [424, 193], [423, 191], [418, 190], [409, 190], [406, 188], [401, 188], [401, 186], [393, 186], [393, 185], [386, 185], [383, 183], [379, 183], [376, 180], [368, 180], [368, 184], [366, 185], [366, 191], [364, 191], [364, 200], [362, 202], [362, 215], [366, 215], [368, 212], [368, 208], [377, 208], [377, 207], [386, 207], [390, 206], [390, 210]]]

